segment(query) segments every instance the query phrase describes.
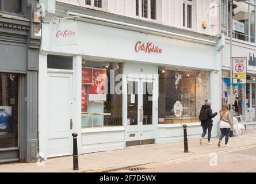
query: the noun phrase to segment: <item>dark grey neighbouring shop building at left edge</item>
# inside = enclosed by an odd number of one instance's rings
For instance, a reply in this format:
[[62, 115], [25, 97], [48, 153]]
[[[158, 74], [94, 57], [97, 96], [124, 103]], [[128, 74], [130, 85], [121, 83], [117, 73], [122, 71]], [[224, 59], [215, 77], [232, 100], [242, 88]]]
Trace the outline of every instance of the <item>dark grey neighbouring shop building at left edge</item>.
[[38, 152], [37, 1], [0, 1], [0, 163], [34, 162]]

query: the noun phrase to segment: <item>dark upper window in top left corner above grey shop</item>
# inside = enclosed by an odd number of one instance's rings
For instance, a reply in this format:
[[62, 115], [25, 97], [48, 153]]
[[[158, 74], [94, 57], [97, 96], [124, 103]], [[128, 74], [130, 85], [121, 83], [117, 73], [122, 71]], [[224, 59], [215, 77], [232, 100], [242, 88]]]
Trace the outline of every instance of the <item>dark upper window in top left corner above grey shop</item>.
[[0, 10], [22, 14], [22, 0], [0, 0]]

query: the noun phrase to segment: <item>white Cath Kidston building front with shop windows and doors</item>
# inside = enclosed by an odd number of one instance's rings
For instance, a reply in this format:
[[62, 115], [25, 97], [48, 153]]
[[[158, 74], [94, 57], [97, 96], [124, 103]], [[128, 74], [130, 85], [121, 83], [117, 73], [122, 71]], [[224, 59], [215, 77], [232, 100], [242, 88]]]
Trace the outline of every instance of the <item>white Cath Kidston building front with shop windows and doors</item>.
[[[171, 143], [201, 136], [221, 108], [219, 1], [41, 1], [39, 152]], [[217, 136], [217, 118], [212, 136]]]

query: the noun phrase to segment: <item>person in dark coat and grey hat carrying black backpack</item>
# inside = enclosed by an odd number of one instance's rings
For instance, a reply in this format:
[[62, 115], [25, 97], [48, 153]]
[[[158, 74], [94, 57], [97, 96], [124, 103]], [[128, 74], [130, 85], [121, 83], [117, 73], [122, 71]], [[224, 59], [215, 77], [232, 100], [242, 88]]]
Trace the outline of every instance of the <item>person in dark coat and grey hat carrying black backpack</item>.
[[202, 126], [202, 137], [200, 138], [200, 145], [202, 145], [202, 139], [204, 136], [207, 134], [208, 130], [208, 145], [211, 145], [212, 143], [210, 142], [211, 136], [212, 136], [212, 118], [217, 116], [216, 113], [212, 113], [212, 102], [209, 101], [208, 99], [205, 100], [205, 105], [202, 105], [199, 119], [201, 120], [201, 126]]

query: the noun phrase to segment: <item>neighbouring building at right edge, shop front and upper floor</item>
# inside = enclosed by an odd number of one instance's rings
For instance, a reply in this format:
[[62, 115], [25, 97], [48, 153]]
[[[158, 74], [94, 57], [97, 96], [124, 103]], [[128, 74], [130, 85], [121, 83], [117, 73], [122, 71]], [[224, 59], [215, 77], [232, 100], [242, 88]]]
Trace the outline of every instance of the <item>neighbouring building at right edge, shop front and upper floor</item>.
[[256, 128], [255, 121], [255, 8], [256, 1], [233, 1], [232, 6], [232, 57], [247, 57], [247, 83], [233, 85], [230, 101], [230, 2], [221, 0], [221, 32], [225, 35], [225, 47], [221, 53], [222, 101], [232, 104], [234, 116], [246, 125]]

